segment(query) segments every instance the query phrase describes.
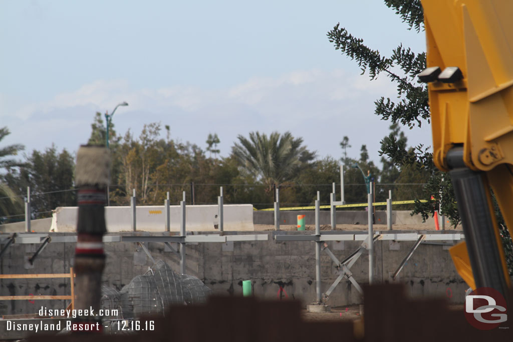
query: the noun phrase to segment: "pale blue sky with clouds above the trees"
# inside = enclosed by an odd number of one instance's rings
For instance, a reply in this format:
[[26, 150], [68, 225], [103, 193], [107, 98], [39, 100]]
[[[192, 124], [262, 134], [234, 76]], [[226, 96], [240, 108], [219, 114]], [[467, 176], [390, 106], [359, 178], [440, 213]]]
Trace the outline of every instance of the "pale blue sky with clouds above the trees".
[[[350, 157], [362, 144], [379, 163], [390, 122], [374, 100], [396, 98], [382, 75], [369, 81], [329, 43], [340, 22], [372, 49], [400, 43], [425, 50], [424, 33], [407, 30], [378, 0], [0, 1], [0, 142], [25, 153], [76, 152], [96, 112], [115, 130], [139, 136], [160, 122], [171, 138], [206, 148], [217, 133], [221, 156], [239, 134], [290, 131], [318, 157]], [[404, 129], [409, 145], [431, 146], [429, 125]]]

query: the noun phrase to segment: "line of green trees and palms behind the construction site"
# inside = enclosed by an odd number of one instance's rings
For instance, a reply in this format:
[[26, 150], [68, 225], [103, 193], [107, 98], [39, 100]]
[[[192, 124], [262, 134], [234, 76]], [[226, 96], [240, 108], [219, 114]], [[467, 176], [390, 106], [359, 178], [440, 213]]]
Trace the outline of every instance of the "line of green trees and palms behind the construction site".
[[[1, 139], [9, 134], [3, 128]], [[162, 134], [165, 133], [165, 134]], [[390, 126], [390, 135], [406, 144], [406, 137], [397, 124]], [[117, 134], [114, 124], [109, 126], [109, 149], [112, 156], [110, 205], [129, 205], [132, 189], [136, 189], [140, 205], [161, 205], [169, 192], [171, 203], [182, 199], [186, 191], [188, 202], [215, 204], [219, 187], [223, 186], [227, 204], [253, 204], [255, 208], [269, 208], [274, 202], [274, 189], [280, 189], [283, 205], [313, 205], [317, 191], [321, 202], [329, 203], [331, 184], [337, 184], [340, 199], [340, 166], [344, 166], [346, 203], [363, 203], [367, 189], [362, 172], [369, 173], [374, 182], [386, 184], [376, 187], [376, 200], [384, 201], [393, 189], [395, 199], [425, 198], [422, 186], [394, 186], [394, 184], [422, 184], [428, 174], [411, 168], [398, 168], [386, 158], [382, 167], [369, 159], [365, 145], [359, 157], [349, 157], [349, 137], [341, 141], [342, 158], [318, 157], [304, 145], [301, 137], [290, 132], [270, 134], [251, 132], [239, 135], [229, 156], [218, 156], [217, 134], [209, 134], [206, 147], [171, 138], [170, 127], [160, 123], [143, 126], [137, 136], [131, 130]], [[96, 113], [91, 124], [88, 144], [106, 145], [106, 127], [101, 113]], [[55, 146], [44, 151], [33, 150], [25, 160], [12, 156], [23, 146], [1, 148], [0, 215], [5, 221], [21, 220], [23, 200], [30, 187], [31, 207], [38, 217], [51, 216], [58, 206], [74, 206], [74, 156]], [[10, 157], [9, 157], [10, 156]], [[354, 168], [358, 165], [358, 168]], [[13, 216], [20, 215], [20, 216]], [[17, 217], [14, 218], [14, 217]]]

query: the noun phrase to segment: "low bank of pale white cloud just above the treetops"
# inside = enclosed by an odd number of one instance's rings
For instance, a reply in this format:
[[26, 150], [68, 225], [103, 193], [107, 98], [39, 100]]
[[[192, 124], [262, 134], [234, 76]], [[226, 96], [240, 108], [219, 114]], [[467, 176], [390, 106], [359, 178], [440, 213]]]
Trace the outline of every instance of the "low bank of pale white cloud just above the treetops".
[[[204, 147], [207, 134], [217, 132], [222, 154], [227, 155], [238, 134], [288, 130], [304, 137], [320, 156], [334, 157], [340, 157], [340, 140], [348, 135], [351, 155], [358, 156], [360, 146], [366, 144], [371, 158], [378, 160], [379, 140], [388, 134], [389, 124], [373, 114], [373, 101], [393, 94], [394, 86], [384, 76], [369, 81], [342, 70], [314, 69], [254, 77], [225, 89], [137, 89], [124, 80], [100, 80], [40, 103], [20, 105], [19, 100], [0, 94], [0, 109], [8, 125], [12, 115], [16, 117], [11, 140], [21, 138], [29, 148], [42, 149], [55, 142], [74, 150], [88, 138], [94, 111], [110, 111], [127, 101], [129, 107], [116, 111], [119, 133], [130, 128], [138, 135], [144, 124], [162, 121], [171, 126], [174, 138]], [[37, 123], [42, 120], [47, 121], [44, 126]], [[429, 134], [418, 138], [430, 144]]]

